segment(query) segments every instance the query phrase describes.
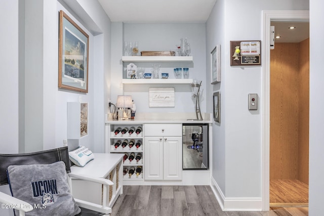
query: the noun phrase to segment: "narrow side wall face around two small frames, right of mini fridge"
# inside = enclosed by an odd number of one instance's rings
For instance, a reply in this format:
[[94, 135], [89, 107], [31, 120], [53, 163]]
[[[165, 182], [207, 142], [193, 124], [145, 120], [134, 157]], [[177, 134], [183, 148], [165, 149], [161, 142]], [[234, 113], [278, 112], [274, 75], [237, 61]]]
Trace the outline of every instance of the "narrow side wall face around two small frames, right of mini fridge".
[[[212, 98], [214, 92], [220, 92], [221, 94], [221, 123], [213, 121], [213, 177], [218, 186], [225, 194], [225, 124], [224, 117], [225, 101], [223, 97], [223, 90], [225, 89], [226, 72], [225, 72], [225, 4], [224, 1], [217, 1], [211, 15], [206, 23], [206, 52], [207, 56], [211, 55], [211, 52], [216, 45], [221, 46], [221, 82], [214, 85], [209, 84], [207, 88], [208, 97]], [[207, 58], [206, 68], [207, 73], [210, 70], [211, 59]], [[211, 83], [211, 77], [207, 75], [207, 83]], [[207, 111], [213, 113], [213, 101], [207, 101]], [[216, 165], [217, 164], [217, 165]]]

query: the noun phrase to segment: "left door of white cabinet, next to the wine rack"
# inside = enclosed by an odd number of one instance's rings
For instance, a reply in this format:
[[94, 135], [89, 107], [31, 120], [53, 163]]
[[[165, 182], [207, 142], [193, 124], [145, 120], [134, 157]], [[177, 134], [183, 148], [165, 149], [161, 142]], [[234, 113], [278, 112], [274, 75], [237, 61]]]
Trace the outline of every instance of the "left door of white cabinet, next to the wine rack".
[[144, 138], [145, 180], [163, 180], [163, 139]]

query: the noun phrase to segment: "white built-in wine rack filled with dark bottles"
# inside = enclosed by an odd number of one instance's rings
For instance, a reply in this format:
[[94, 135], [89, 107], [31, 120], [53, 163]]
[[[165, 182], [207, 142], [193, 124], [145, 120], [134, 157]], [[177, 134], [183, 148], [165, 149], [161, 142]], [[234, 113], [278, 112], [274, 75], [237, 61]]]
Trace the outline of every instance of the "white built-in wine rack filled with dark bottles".
[[[124, 128], [127, 128], [127, 130], [123, 131]], [[133, 133], [130, 133], [130, 129], [133, 128]], [[141, 132], [136, 133], [136, 130], [140, 128]], [[108, 126], [108, 134], [109, 134], [109, 145], [108, 145], [108, 151], [109, 153], [127, 153], [128, 157], [124, 159], [123, 166], [124, 168], [127, 168], [130, 170], [131, 167], [135, 167], [135, 169], [140, 166], [142, 168], [142, 171], [139, 175], [136, 175], [136, 171], [133, 175], [129, 175], [127, 173], [126, 175], [123, 175], [124, 181], [143, 181], [143, 166], [144, 166], [144, 137], [143, 137], [143, 125], [142, 124], [109, 124]], [[122, 133], [123, 131], [123, 133]], [[125, 142], [126, 141], [126, 142]], [[129, 145], [123, 147], [123, 143], [130, 144], [130, 142], [134, 142], [134, 146], [130, 147]], [[119, 143], [119, 144], [117, 144]], [[137, 147], [136, 145], [140, 143], [140, 146]], [[116, 146], [115, 146], [116, 145]], [[129, 156], [133, 154], [134, 159], [130, 160]], [[141, 158], [136, 160], [136, 156], [141, 154]]]

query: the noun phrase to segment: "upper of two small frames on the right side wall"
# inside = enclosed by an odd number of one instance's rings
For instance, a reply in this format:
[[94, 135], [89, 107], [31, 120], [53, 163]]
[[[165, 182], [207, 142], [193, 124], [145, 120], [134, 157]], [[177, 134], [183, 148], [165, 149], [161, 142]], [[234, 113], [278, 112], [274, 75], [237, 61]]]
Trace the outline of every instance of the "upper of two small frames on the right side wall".
[[211, 84], [221, 81], [221, 45], [216, 45], [211, 52]]

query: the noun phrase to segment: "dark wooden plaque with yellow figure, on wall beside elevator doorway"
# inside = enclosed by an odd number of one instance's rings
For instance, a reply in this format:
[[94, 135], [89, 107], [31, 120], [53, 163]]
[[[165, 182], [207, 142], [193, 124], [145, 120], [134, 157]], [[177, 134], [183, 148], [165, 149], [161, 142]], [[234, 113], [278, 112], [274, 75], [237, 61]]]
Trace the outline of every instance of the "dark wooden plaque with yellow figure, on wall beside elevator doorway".
[[261, 65], [261, 40], [230, 41], [231, 66]]

